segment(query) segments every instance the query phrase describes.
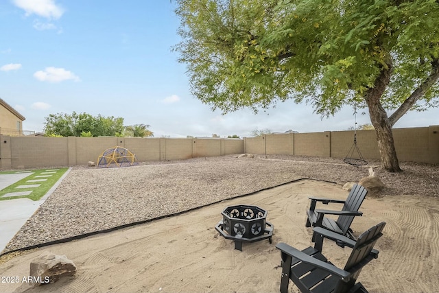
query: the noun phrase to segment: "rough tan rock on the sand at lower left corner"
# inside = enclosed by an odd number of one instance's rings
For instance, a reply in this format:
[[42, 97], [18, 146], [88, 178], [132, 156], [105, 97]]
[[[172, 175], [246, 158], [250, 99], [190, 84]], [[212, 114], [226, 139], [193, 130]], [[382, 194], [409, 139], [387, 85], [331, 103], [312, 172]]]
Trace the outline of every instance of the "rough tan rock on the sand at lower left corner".
[[30, 263], [29, 276], [39, 280], [36, 285], [54, 283], [61, 277], [71, 277], [76, 272], [76, 266], [65, 255], [43, 253]]

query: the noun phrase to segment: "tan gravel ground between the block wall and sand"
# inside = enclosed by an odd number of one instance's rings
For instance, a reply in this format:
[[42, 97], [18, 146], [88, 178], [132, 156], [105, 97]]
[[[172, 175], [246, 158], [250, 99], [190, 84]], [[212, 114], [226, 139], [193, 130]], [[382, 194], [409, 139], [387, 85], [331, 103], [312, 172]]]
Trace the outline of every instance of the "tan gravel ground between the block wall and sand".
[[[379, 166], [379, 161], [369, 165]], [[379, 196], [439, 197], [438, 165], [400, 165], [404, 172], [398, 174], [375, 169], [387, 187]], [[299, 178], [343, 185], [364, 176], [367, 168], [346, 165], [341, 159], [281, 155], [230, 155], [111, 169], [73, 167], [3, 253], [171, 215]]]

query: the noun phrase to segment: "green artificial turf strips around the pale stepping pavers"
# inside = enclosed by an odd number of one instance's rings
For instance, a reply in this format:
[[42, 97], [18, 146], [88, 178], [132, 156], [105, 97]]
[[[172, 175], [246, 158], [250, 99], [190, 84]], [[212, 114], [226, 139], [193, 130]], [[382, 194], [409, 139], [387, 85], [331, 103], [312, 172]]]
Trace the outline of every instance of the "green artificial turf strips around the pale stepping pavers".
[[[47, 178], [46, 181], [42, 182], [29, 182], [27, 183], [27, 180], [32, 179], [45, 179], [43, 177], [41, 178], [35, 178], [35, 176], [41, 175], [43, 172], [47, 172], [48, 169], [38, 169], [38, 170], [29, 170], [32, 173], [29, 173], [29, 176], [17, 181], [16, 183], [6, 187], [5, 189], [0, 190], [0, 200], [14, 200], [16, 198], [29, 198], [31, 200], [40, 200], [45, 194], [47, 194], [47, 191], [51, 189], [52, 186], [58, 181], [58, 179], [69, 169], [69, 168], [57, 168], [59, 169], [56, 171], [56, 173], [51, 174], [51, 177], [45, 177]], [[16, 171], [8, 171], [8, 172], [0, 172], [1, 174], [14, 174]], [[43, 174], [45, 175], [45, 174]], [[39, 187], [29, 187], [29, 188], [19, 188], [16, 189], [19, 185], [33, 185], [33, 184], [40, 184]], [[29, 194], [28, 196], [10, 196], [7, 198], [2, 198], [5, 194], [8, 194], [10, 192], [17, 192], [17, 191], [29, 191], [32, 190], [32, 194]]]

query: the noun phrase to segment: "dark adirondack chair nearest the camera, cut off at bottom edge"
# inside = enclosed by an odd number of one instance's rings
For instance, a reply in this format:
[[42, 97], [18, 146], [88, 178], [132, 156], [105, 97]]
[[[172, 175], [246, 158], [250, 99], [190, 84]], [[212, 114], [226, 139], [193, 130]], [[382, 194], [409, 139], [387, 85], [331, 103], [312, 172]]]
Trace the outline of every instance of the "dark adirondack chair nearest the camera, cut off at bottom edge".
[[301, 292], [367, 292], [361, 283], [356, 283], [357, 278], [361, 269], [378, 257], [378, 251], [373, 246], [381, 237], [384, 226], [385, 222], [373, 226], [359, 235], [357, 242], [321, 227], [313, 228], [318, 237], [346, 242], [346, 246], [353, 248], [343, 270], [334, 266], [315, 247], [310, 246], [300, 251], [285, 243], [277, 244], [282, 259], [281, 292], [288, 292], [289, 279]]

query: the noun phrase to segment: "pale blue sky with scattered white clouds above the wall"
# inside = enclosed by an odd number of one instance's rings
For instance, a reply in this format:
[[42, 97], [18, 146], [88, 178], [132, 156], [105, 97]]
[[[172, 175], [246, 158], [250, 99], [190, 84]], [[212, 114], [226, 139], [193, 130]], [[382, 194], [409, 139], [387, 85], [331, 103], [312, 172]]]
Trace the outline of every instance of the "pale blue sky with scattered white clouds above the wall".
[[[86, 112], [149, 124], [155, 137], [247, 137], [346, 130], [353, 109], [320, 119], [292, 102], [254, 115], [211, 111], [190, 93], [186, 67], [171, 47], [179, 20], [169, 0], [1, 0], [0, 97], [40, 132], [51, 113]], [[439, 109], [405, 115], [395, 128], [439, 124]], [[357, 117], [370, 123], [368, 115]]]

